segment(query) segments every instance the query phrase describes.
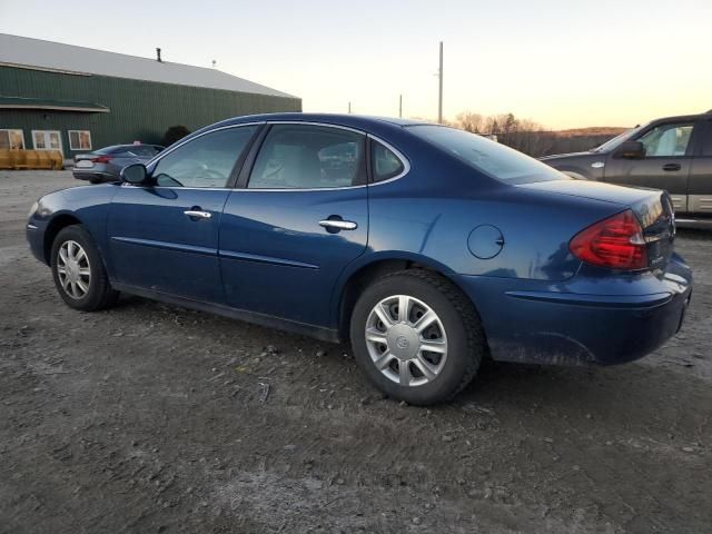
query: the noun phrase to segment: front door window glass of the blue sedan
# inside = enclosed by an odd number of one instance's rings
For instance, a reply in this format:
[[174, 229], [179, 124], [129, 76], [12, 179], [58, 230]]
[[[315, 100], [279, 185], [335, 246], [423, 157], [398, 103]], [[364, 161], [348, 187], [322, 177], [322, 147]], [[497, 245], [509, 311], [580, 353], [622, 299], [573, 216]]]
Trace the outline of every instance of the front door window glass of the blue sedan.
[[226, 187], [256, 126], [211, 131], [178, 147], [154, 169], [157, 186]]

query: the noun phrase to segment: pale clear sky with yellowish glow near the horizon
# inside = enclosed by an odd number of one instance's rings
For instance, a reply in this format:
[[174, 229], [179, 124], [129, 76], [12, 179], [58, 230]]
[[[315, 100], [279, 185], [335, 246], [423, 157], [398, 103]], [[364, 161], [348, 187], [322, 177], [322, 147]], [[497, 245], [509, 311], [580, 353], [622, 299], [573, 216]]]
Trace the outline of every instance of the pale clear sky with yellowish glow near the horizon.
[[0, 0], [0, 32], [217, 68], [305, 111], [553, 129], [712, 109], [712, 0]]

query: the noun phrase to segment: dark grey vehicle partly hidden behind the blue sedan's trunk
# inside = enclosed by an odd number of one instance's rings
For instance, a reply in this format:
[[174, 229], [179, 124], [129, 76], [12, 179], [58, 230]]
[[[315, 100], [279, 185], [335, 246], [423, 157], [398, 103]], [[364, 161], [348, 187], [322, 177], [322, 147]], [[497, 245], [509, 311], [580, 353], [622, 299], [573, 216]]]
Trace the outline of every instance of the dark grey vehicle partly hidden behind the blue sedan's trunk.
[[712, 225], [712, 110], [653, 120], [591, 151], [542, 161], [573, 178], [665, 189], [678, 224]]

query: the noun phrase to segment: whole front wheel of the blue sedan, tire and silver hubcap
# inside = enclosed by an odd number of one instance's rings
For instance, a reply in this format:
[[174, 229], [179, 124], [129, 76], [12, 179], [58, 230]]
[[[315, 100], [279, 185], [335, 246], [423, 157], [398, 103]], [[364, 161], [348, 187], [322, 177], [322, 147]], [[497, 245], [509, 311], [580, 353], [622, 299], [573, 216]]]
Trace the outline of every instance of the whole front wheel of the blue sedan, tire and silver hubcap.
[[119, 296], [109, 284], [99, 249], [81, 225], [68, 226], [57, 235], [51, 268], [59, 296], [75, 309], [107, 308]]

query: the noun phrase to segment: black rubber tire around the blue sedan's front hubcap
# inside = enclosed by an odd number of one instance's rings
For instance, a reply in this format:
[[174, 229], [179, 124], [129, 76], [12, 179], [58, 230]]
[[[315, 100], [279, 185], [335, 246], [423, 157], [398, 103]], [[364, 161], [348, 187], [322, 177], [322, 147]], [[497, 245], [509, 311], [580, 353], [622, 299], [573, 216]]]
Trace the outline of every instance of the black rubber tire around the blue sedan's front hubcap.
[[[59, 277], [59, 251], [62, 245], [67, 241], [78, 243], [81, 248], [83, 248], [88, 257], [90, 278], [88, 290], [81, 298], [72, 297], [69, 289], [65, 289], [65, 287], [62, 287], [62, 283]], [[60, 230], [52, 243], [50, 259], [55, 286], [57, 287], [59, 296], [65, 300], [67, 306], [82, 312], [95, 312], [108, 308], [116, 304], [119, 298], [119, 291], [111, 288], [99, 249], [91, 238], [91, 235], [81, 225], [71, 225]]]

